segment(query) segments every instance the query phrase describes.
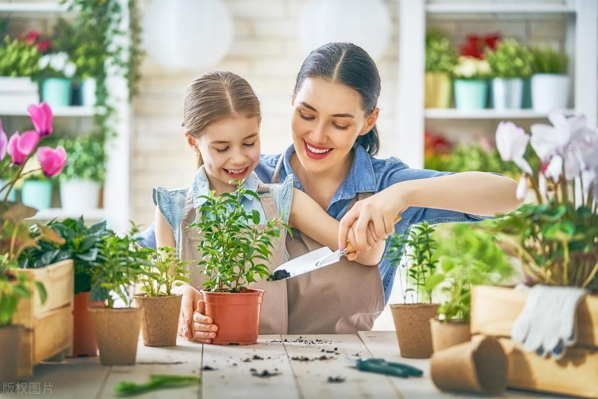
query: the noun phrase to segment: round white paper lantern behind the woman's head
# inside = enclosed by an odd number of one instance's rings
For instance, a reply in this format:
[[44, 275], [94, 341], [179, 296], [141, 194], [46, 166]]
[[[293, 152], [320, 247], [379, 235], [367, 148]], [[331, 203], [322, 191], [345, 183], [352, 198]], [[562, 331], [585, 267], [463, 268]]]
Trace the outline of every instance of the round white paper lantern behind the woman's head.
[[307, 52], [329, 42], [352, 42], [380, 59], [390, 42], [392, 22], [382, 0], [310, 0], [299, 21]]

